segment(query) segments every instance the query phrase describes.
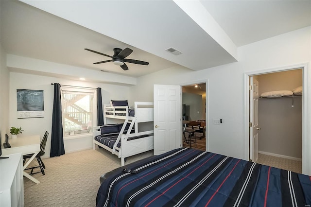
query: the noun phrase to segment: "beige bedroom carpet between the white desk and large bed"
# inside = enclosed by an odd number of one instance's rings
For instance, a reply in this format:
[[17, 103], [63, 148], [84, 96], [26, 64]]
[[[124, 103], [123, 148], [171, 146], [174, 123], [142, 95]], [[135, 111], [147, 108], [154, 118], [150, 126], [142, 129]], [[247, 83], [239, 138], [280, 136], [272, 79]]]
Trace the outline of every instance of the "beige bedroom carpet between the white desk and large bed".
[[[151, 155], [153, 151], [128, 157], [125, 164]], [[34, 175], [39, 184], [24, 177], [25, 207], [94, 207], [100, 176], [121, 166], [121, 160], [104, 149], [70, 153], [43, 162], [45, 175]]]

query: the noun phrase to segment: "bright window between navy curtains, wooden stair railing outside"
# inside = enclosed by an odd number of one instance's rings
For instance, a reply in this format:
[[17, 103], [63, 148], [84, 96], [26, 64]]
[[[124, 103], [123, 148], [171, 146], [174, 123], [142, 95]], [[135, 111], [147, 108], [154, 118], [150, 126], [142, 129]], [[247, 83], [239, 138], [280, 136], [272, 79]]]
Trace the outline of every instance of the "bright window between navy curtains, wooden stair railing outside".
[[64, 137], [91, 133], [96, 118], [96, 89], [64, 87], [62, 119]]

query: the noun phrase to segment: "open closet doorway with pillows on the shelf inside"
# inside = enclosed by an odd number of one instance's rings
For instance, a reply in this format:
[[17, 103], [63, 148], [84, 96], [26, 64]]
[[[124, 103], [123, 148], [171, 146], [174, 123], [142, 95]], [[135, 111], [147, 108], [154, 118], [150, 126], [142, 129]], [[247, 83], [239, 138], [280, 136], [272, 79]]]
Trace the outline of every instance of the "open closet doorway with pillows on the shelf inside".
[[302, 173], [303, 69], [251, 75], [249, 82], [250, 159]]

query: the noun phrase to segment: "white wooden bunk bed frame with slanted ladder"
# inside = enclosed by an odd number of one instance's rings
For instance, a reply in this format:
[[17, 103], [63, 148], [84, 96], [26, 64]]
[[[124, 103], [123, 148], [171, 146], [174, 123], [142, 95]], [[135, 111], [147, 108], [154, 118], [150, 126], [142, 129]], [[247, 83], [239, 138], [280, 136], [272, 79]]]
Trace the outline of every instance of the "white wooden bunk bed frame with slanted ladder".
[[[119, 124], [120, 131], [113, 131], [114, 133], [103, 134], [101, 127], [118, 127], [113, 124], [94, 127], [93, 148], [95, 145], [101, 146], [114, 155], [121, 158], [121, 166], [125, 164], [125, 158], [143, 153], [154, 149], [154, 136], [153, 130], [138, 132], [138, 123], [153, 121], [153, 103], [152, 102], [135, 102], [134, 103], [135, 115], [130, 116], [131, 109], [128, 106], [111, 106], [111, 104], [104, 104], [104, 122], [107, 119], [121, 119], [124, 123]], [[118, 125], [118, 124], [117, 124]], [[133, 127], [135, 128], [134, 133]], [[113, 138], [115, 140], [113, 146], [104, 142], [104, 137]], [[110, 137], [109, 137], [110, 138]], [[109, 145], [109, 146], [108, 146]]]

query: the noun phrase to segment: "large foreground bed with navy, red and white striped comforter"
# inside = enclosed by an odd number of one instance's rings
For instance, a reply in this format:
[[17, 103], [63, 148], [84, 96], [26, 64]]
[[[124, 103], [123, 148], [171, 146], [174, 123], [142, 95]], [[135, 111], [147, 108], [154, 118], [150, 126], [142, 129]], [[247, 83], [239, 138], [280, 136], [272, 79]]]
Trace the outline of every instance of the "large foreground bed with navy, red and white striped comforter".
[[124, 166], [101, 185], [97, 207], [310, 207], [311, 176], [179, 148]]

